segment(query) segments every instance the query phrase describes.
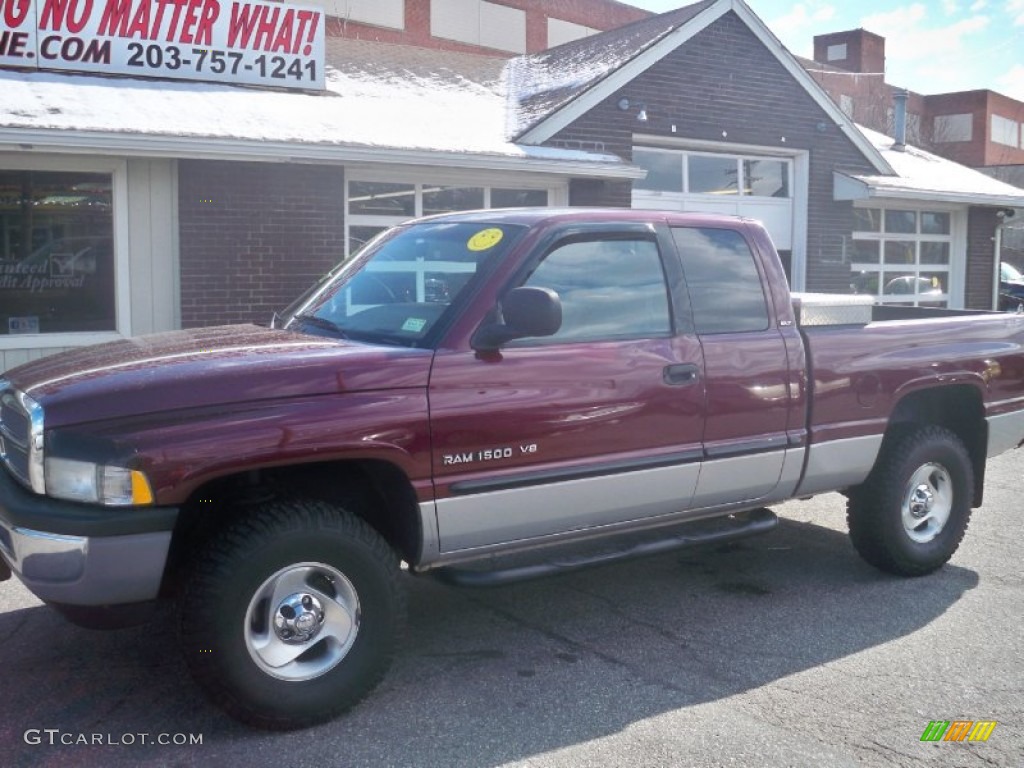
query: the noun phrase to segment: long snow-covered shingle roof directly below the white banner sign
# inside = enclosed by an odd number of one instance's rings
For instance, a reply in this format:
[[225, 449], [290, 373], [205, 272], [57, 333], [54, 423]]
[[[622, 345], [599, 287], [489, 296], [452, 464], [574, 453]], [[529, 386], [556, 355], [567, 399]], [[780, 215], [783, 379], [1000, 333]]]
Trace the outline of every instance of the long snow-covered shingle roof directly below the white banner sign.
[[611, 155], [508, 140], [502, 59], [335, 38], [327, 60], [323, 93], [0, 71], [0, 133], [137, 134], [207, 148], [225, 141], [386, 147], [625, 167]]

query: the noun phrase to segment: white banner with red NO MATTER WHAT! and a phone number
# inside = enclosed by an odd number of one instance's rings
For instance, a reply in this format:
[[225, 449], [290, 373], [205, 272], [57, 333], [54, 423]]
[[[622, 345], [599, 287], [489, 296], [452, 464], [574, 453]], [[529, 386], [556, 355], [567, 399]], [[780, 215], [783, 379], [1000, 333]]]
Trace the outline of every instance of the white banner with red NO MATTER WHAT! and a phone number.
[[323, 88], [324, 26], [265, 0], [0, 0], [0, 68]]

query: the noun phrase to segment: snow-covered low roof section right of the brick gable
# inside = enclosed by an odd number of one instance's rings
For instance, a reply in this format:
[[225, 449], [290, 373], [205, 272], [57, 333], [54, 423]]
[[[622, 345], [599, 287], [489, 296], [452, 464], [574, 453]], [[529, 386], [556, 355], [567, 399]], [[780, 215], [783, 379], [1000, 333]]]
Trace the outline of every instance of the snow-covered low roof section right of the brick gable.
[[[896, 140], [870, 128], [857, 128], [882, 153], [896, 176], [842, 173], [863, 186], [861, 197], [906, 198], [974, 205], [1024, 206], [1024, 189], [986, 176], [973, 168], [932, 155], [909, 144], [894, 148]], [[854, 196], [844, 196], [854, 197]]]

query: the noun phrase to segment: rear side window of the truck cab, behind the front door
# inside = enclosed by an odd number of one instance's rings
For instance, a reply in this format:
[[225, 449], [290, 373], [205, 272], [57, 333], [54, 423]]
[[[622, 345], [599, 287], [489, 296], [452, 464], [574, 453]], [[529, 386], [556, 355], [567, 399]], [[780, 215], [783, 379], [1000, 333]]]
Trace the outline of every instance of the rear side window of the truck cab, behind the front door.
[[732, 229], [673, 227], [698, 334], [768, 328], [761, 273], [743, 237]]

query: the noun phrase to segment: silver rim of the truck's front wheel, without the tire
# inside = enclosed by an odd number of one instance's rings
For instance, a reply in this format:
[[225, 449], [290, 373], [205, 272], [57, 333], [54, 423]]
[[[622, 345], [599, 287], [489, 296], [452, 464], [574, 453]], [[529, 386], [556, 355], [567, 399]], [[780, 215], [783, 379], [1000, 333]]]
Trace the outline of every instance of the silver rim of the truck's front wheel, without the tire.
[[246, 648], [279, 680], [309, 680], [334, 669], [359, 632], [359, 597], [352, 583], [325, 563], [289, 565], [249, 601]]

